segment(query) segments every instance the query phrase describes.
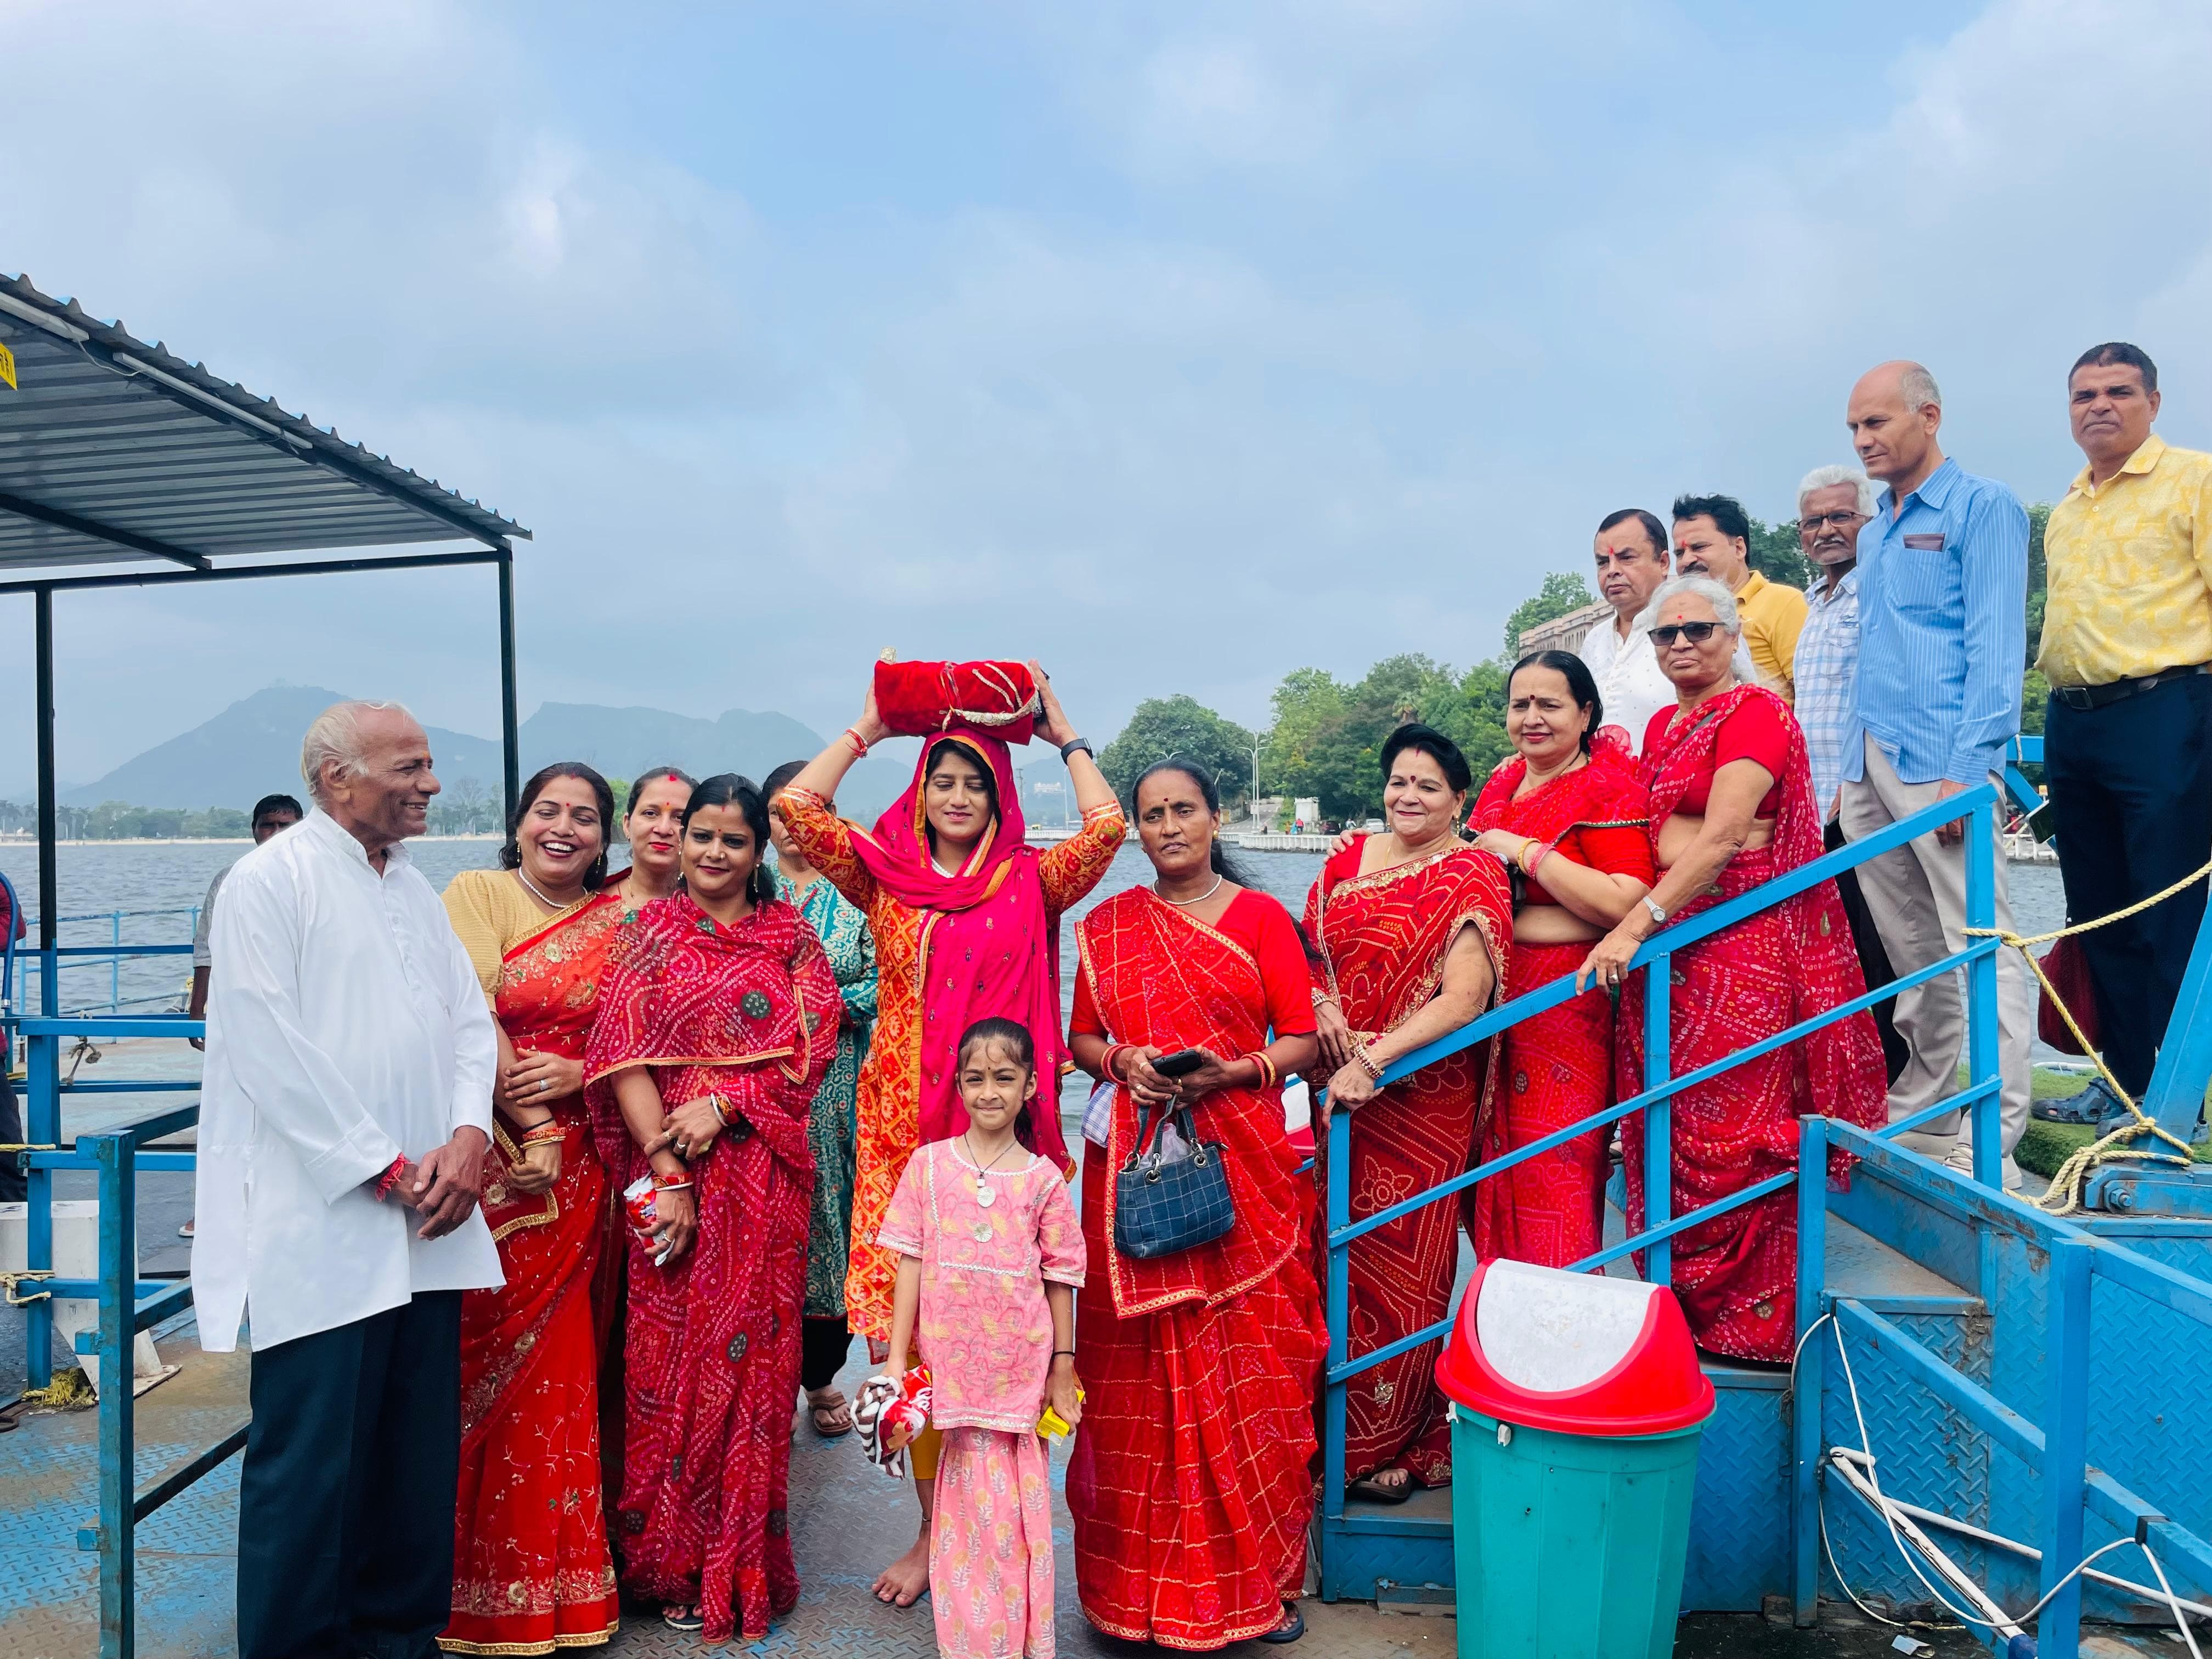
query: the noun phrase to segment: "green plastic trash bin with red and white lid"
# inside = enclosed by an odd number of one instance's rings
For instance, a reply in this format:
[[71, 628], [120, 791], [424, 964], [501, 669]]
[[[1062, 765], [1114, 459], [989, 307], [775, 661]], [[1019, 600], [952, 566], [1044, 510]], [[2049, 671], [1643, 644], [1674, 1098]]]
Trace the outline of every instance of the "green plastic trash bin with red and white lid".
[[1436, 1376], [1460, 1659], [1672, 1652], [1714, 1402], [1674, 1296], [1486, 1261]]

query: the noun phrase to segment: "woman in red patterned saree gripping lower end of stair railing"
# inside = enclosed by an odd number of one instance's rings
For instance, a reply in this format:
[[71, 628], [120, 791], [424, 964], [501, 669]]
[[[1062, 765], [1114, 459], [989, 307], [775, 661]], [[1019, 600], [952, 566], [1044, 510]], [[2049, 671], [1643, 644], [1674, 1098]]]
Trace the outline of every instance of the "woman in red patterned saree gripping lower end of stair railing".
[[[1467, 757], [1442, 732], [1400, 726], [1383, 743], [1389, 830], [1356, 836], [1321, 869], [1305, 931], [1329, 1108], [1352, 1117], [1352, 1219], [1464, 1175], [1495, 1075], [1480, 1044], [1389, 1088], [1383, 1068], [1498, 1002], [1513, 960], [1504, 865], [1458, 838]], [[1327, 1192], [1327, 1141], [1316, 1186]], [[1345, 1352], [1360, 1358], [1440, 1321], [1451, 1303], [1460, 1206], [1429, 1203], [1352, 1245]], [[1318, 1217], [1316, 1274], [1327, 1270]], [[1345, 1391], [1345, 1475], [1354, 1493], [1405, 1502], [1409, 1484], [1451, 1482], [1451, 1422], [1436, 1387], [1440, 1340], [1385, 1360]]]

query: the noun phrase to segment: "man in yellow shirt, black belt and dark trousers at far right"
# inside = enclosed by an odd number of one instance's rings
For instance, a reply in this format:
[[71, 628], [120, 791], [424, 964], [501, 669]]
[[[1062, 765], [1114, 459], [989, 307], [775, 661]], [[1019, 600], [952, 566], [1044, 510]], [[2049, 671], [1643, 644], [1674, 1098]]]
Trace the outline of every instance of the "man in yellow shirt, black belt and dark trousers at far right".
[[[2044, 770], [2066, 918], [2086, 922], [2170, 887], [2212, 852], [2212, 456], [2152, 436], [2159, 369], [2135, 345], [2093, 345], [2066, 392], [2088, 467], [2044, 529], [2051, 588], [2035, 666], [2051, 679]], [[2199, 883], [2079, 936], [2104, 1062], [2135, 1099], [2203, 911]], [[2112, 1124], [2126, 1110], [2099, 1082], [2037, 1115]]]

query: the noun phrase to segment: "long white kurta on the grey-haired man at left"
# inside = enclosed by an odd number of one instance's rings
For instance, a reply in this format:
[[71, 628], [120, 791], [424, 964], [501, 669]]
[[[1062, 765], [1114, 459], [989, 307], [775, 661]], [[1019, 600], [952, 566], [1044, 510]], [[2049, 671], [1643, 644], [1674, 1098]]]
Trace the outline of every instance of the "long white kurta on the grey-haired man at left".
[[462, 1124], [491, 1133], [498, 1035], [445, 905], [392, 847], [378, 876], [323, 812], [230, 867], [199, 1091], [199, 1343], [254, 1347], [487, 1290], [482, 1212], [442, 1239], [372, 1183]]

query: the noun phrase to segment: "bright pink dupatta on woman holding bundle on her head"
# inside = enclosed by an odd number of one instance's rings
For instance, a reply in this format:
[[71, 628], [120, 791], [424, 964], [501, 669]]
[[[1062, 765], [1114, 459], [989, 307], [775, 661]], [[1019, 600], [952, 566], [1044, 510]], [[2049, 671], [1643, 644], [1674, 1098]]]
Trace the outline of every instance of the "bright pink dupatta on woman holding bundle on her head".
[[[929, 759], [942, 743], [973, 752], [998, 785], [998, 821], [951, 876], [929, 856], [922, 810]], [[1060, 927], [1046, 911], [1037, 849], [1024, 834], [1022, 790], [1006, 743], [953, 726], [922, 741], [914, 781], [876, 818], [874, 834], [856, 830], [852, 836], [854, 854], [876, 885], [922, 916], [916, 953], [925, 1009], [918, 1146], [951, 1139], [967, 1128], [953, 1062], [960, 1033], [989, 1015], [1029, 1026], [1037, 1044], [1037, 1075], [1046, 1079], [1044, 1093], [1057, 1102], [1060, 1075], [1068, 1068], [1060, 1031]], [[1057, 1104], [1029, 1113], [1022, 1144], [1062, 1172], [1073, 1168], [1060, 1135]]]

